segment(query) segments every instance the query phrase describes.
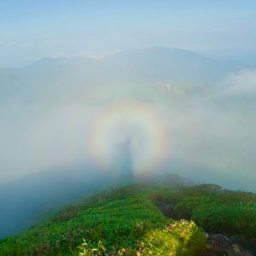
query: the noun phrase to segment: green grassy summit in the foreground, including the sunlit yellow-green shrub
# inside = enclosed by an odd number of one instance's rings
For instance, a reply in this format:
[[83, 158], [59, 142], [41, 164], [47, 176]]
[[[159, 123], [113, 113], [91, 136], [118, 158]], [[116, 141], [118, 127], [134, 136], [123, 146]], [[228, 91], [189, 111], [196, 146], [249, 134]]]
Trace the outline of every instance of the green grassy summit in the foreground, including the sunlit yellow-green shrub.
[[[160, 206], [171, 203], [166, 218]], [[0, 255], [213, 255], [203, 228], [253, 239], [255, 195], [216, 185], [128, 185], [5, 238]]]

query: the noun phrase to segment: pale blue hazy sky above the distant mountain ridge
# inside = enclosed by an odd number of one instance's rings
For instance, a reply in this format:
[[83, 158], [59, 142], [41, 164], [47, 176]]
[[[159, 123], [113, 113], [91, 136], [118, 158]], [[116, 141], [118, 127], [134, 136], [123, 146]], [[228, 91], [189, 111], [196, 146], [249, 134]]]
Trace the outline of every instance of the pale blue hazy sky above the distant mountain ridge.
[[0, 67], [152, 46], [216, 58], [256, 51], [250, 0], [0, 0]]

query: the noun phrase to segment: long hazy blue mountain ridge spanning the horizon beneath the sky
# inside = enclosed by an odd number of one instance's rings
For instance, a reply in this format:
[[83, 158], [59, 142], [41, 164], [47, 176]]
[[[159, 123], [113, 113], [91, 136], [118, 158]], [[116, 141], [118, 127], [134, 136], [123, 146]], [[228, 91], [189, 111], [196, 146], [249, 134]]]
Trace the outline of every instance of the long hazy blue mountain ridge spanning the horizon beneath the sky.
[[241, 68], [243, 66], [235, 61], [217, 61], [188, 50], [154, 47], [126, 50], [99, 59], [44, 58], [19, 69], [0, 69], [0, 83], [3, 91], [6, 86], [33, 89], [36, 81], [44, 83], [46, 88], [64, 86], [70, 81], [73, 87], [124, 80], [212, 82]]

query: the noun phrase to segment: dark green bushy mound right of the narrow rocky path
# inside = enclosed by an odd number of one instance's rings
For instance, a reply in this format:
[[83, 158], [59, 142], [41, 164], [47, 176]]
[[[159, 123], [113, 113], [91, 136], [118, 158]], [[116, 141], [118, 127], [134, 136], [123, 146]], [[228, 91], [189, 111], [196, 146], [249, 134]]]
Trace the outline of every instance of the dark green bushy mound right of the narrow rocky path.
[[179, 196], [176, 218], [192, 219], [208, 232], [256, 237], [255, 194], [201, 185]]

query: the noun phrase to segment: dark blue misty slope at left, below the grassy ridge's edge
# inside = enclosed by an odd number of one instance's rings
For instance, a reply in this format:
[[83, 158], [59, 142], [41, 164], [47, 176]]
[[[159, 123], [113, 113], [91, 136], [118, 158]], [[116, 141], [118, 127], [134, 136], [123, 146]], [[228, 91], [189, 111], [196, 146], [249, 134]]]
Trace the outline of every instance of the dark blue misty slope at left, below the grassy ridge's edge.
[[40, 212], [99, 189], [110, 183], [110, 178], [106, 171], [83, 160], [3, 183], [0, 237], [26, 229], [35, 223]]

